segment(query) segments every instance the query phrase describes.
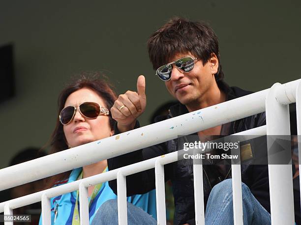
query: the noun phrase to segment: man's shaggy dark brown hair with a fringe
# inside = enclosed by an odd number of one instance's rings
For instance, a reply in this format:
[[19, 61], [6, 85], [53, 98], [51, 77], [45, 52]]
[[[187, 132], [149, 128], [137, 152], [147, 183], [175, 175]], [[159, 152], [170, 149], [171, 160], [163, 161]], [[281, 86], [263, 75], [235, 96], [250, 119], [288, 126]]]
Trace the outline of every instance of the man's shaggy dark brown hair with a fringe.
[[176, 54], [190, 52], [205, 65], [214, 53], [219, 61], [215, 80], [218, 83], [224, 78], [217, 36], [204, 22], [192, 22], [181, 17], [172, 18], [151, 35], [148, 51], [154, 70], [167, 64]]

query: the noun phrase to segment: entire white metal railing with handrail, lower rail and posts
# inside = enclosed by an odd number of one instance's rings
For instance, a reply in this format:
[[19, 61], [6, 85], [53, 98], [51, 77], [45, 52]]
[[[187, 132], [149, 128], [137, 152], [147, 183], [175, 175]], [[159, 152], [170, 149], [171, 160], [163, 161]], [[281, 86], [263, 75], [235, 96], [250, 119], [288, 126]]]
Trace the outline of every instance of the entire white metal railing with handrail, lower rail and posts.
[[[141, 127], [110, 138], [94, 141], [19, 165], [0, 169], [0, 190], [15, 187], [60, 172], [116, 157], [163, 141], [205, 130], [243, 117], [266, 111], [267, 125], [240, 133], [240, 135], [290, 135], [288, 104], [296, 102], [298, 135], [301, 135], [301, 79], [286, 84], [274, 84], [271, 88], [241, 98], [220, 103], [196, 112]], [[164, 134], [164, 135], [162, 135]], [[236, 134], [239, 135], [239, 134]], [[300, 141], [300, 140], [299, 140]], [[271, 146], [268, 141], [268, 149]], [[110, 150], [108, 150], [110, 149]], [[301, 146], [299, 146], [299, 152]], [[90, 157], [93, 155], [93, 157]], [[301, 154], [299, 154], [299, 157]], [[166, 224], [164, 167], [178, 160], [177, 152], [129, 165], [106, 173], [91, 176], [59, 187], [37, 192], [0, 203], [0, 212], [12, 215], [13, 209], [42, 201], [43, 224], [50, 225], [50, 198], [79, 190], [81, 225], [89, 224], [88, 187], [117, 179], [119, 224], [127, 224], [126, 185], [127, 175], [155, 168], [156, 203], [158, 224]], [[300, 161], [299, 161], [300, 162]], [[272, 165], [269, 158], [269, 182], [271, 221], [273, 225], [294, 224], [292, 167]], [[46, 169], [47, 168], [47, 169]], [[194, 190], [203, 189], [202, 165], [193, 166]], [[11, 179], [14, 177], [14, 180]], [[232, 165], [234, 222], [242, 224], [241, 169]], [[195, 192], [196, 224], [204, 225], [203, 192]], [[11, 225], [12, 223], [5, 223]]]

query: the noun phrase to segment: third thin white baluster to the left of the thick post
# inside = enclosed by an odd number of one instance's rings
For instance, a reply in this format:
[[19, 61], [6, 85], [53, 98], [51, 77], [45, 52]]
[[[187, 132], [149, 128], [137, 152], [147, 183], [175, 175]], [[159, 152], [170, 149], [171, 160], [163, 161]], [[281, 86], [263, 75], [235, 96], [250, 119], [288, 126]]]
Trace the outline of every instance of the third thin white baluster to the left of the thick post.
[[155, 162], [155, 179], [157, 224], [166, 225], [164, 165], [160, 163], [160, 159], [157, 159]]

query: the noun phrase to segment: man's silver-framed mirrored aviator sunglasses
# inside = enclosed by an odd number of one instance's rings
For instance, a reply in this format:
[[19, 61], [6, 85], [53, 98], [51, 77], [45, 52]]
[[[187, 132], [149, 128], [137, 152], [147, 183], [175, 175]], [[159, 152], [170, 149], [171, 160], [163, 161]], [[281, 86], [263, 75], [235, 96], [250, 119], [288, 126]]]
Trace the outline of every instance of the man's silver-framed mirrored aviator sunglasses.
[[180, 69], [182, 72], [189, 72], [194, 67], [194, 60], [197, 58], [192, 57], [183, 57], [176, 61], [167, 63], [164, 66], [159, 67], [156, 70], [156, 75], [162, 80], [162, 81], [169, 81], [171, 78], [172, 73], [172, 64], [175, 64], [178, 69]]

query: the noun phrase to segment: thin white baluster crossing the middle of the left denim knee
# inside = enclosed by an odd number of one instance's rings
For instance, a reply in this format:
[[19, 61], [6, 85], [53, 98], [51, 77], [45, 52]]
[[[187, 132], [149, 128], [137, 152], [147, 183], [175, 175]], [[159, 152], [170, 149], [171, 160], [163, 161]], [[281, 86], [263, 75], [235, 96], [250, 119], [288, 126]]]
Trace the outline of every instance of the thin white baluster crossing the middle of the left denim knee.
[[126, 177], [117, 173], [118, 224], [127, 225]]

